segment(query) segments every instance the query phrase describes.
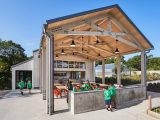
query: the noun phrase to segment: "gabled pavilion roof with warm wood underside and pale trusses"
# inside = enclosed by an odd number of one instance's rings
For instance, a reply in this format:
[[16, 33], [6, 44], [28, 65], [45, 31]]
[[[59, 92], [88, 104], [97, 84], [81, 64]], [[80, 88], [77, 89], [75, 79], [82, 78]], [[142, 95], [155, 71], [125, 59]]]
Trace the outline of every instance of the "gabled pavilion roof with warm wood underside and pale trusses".
[[[54, 35], [54, 54], [61, 55], [63, 49], [92, 60], [154, 48], [118, 5], [47, 20], [45, 33]], [[45, 46], [44, 36], [42, 40]], [[72, 41], [75, 47], [70, 46]]]

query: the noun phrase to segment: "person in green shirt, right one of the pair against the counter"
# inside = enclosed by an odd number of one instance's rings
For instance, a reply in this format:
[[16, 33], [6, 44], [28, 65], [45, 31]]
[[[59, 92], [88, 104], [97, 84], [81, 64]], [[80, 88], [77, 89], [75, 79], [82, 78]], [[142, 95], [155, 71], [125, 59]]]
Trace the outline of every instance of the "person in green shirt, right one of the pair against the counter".
[[111, 84], [111, 86], [109, 87], [109, 90], [111, 92], [111, 103], [112, 106], [116, 109], [117, 105], [116, 105], [116, 87]]

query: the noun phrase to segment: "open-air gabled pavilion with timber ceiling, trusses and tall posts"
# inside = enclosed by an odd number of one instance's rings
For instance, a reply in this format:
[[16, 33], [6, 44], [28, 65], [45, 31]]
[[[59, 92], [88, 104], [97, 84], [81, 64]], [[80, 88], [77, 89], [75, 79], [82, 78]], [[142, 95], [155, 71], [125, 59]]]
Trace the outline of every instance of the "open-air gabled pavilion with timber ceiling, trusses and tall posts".
[[[80, 76], [95, 81], [95, 61], [102, 61], [102, 82], [105, 82], [104, 60], [117, 57], [117, 83], [121, 84], [121, 56], [141, 52], [141, 85], [146, 88], [146, 51], [153, 45], [134, 25], [118, 5], [47, 20], [40, 45], [40, 78], [43, 99], [48, 113], [54, 113], [54, 72], [67, 67], [55, 67], [54, 61], [78, 61], [84, 70]], [[58, 63], [57, 63], [58, 64]], [[65, 63], [65, 64], [69, 64]], [[61, 65], [60, 65], [61, 66]], [[83, 71], [71, 65], [70, 71]], [[75, 70], [76, 69], [76, 70]], [[80, 73], [81, 74], [81, 73]], [[146, 94], [146, 89], [143, 95]]]

